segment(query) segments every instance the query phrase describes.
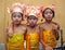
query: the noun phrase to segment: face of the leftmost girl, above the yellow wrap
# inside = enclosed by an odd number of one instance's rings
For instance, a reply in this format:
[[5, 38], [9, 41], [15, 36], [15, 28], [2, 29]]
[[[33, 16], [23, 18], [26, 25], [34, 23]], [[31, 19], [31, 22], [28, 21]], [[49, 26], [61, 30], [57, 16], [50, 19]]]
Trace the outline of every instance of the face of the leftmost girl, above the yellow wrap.
[[12, 21], [14, 24], [20, 24], [22, 22], [23, 16], [21, 15], [20, 12], [15, 12], [12, 15]]

